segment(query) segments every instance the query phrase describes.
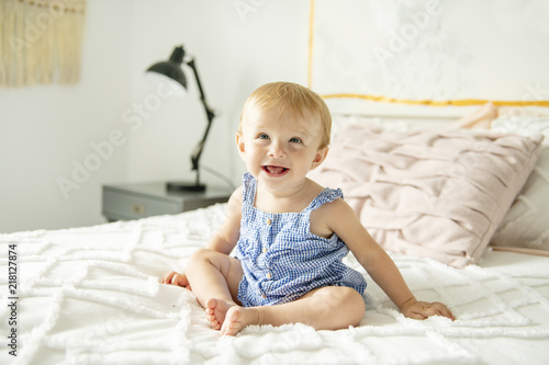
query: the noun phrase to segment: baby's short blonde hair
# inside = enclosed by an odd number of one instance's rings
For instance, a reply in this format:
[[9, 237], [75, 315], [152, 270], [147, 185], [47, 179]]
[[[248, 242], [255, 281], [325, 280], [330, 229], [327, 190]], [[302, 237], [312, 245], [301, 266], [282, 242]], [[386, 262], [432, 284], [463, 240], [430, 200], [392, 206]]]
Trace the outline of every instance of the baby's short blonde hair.
[[239, 134], [242, 134], [243, 119], [249, 105], [259, 109], [278, 107], [280, 114], [290, 111], [294, 114], [299, 113], [302, 117], [304, 117], [304, 110], [313, 115], [318, 115], [323, 126], [323, 136], [318, 149], [329, 146], [332, 115], [324, 100], [314, 91], [298, 83], [284, 81], [270, 82], [259, 87], [244, 104], [240, 124], [238, 125]]

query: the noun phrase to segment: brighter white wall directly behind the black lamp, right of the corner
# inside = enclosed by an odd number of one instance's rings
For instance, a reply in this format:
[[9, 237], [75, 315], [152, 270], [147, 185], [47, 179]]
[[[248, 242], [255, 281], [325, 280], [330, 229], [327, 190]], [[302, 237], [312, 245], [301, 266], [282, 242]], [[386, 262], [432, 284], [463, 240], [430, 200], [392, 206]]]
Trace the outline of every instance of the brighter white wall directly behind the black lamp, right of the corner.
[[[255, 5], [254, 5], [255, 4]], [[249, 8], [247, 8], [249, 7]], [[239, 182], [244, 166], [234, 134], [248, 94], [261, 83], [306, 83], [309, 1], [163, 1], [141, 0], [135, 7], [133, 99], [144, 102], [155, 90], [142, 78], [155, 61], [183, 44], [195, 57], [214, 119], [202, 163]], [[189, 179], [190, 151], [201, 138], [205, 115], [190, 68], [184, 99], [163, 101], [143, 126], [132, 132], [128, 178], [132, 181]], [[217, 178], [202, 173], [210, 184]]]

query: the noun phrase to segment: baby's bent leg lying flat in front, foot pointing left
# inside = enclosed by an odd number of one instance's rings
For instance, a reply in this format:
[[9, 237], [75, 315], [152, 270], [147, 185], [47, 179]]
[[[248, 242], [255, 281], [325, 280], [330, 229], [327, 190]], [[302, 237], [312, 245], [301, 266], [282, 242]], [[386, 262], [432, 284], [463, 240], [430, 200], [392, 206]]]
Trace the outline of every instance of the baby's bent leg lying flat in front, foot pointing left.
[[283, 305], [232, 307], [221, 332], [235, 335], [248, 324], [282, 326], [298, 322], [316, 330], [338, 330], [357, 326], [365, 310], [365, 301], [357, 290], [345, 286], [326, 286]]

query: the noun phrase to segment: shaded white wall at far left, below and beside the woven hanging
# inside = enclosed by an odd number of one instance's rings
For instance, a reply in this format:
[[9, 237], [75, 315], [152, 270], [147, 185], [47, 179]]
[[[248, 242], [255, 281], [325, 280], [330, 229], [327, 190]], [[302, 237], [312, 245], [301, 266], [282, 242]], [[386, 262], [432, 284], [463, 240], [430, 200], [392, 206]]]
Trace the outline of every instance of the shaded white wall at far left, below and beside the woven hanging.
[[0, 232], [103, 221], [100, 185], [125, 179], [127, 146], [66, 196], [57, 179], [74, 181], [74, 161], [85, 163], [127, 103], [130, 3], [89, 1], [77, 85], [0, 89]]

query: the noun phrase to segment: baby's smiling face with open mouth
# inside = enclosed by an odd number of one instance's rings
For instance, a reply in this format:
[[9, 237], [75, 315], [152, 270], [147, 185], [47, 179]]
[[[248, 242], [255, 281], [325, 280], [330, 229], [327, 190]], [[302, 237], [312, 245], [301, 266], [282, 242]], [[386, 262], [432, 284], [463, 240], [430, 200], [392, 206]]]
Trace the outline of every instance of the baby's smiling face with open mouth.
[[318, 150], [323, 135], [321, 119], [310, 112], [280, 114], [278, 109], [249, 105], [237, 134], [237, 146], [246, 168], [271, 189], [303, 184], [307, 172], [324, 160]]

